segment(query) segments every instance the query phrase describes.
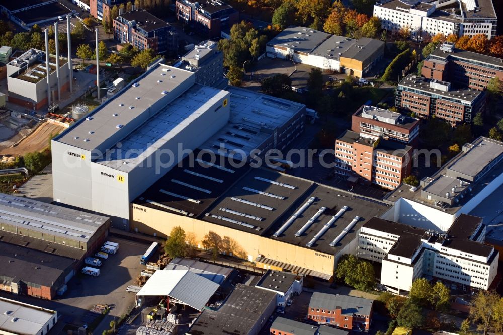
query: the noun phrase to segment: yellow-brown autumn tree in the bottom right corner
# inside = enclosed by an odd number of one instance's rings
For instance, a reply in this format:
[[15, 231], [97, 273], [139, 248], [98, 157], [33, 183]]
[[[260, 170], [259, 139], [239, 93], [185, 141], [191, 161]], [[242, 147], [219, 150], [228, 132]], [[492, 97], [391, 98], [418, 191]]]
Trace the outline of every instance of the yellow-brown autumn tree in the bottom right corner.
[[470, 319], [477, 323], [477, 330], [482, 330], [484, 335], [495, 325], [494, 306], [501, 300], [496, 292], [480, 290], [472, 300], [470, 306]]

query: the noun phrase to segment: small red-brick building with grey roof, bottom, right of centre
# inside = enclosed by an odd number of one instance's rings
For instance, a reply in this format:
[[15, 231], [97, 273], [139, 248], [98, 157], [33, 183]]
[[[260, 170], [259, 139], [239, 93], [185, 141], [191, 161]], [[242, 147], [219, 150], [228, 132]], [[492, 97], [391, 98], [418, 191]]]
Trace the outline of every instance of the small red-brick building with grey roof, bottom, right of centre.
[[307, 318], [348, 330], [368, 331], [374, 301], [349, 295], [313, 292]]

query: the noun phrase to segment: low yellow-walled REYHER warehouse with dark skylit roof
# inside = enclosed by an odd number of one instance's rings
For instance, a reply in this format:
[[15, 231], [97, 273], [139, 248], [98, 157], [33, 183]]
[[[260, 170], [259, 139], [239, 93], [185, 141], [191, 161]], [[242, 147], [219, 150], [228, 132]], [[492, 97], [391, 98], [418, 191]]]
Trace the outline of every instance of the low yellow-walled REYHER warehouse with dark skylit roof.
[[[347, 207], [346, 207], [347, 206]], [[273, 270], [329, 279], [337, 260], [354, 253], [357, 232], [387, 205], [269, 169], [186, 161], [131, 204], [131, 229], [158, 236], [175, 226], [232, 239], [221, 250]], [[231, 243], [232, 244], [232, 243]]]

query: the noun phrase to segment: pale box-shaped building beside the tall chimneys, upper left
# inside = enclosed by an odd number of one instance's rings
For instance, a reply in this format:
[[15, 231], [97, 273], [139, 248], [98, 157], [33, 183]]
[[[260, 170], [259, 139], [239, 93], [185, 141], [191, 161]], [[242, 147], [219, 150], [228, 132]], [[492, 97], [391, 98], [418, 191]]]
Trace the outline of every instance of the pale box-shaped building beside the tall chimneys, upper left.
[[[49, 64], [45, 62], [45, 52], [30, 49], [7, 63], [7, 87], [9, 102], [24, 108], [37, 110], [58, 99], [58, 85], [61, 92], [69, 90], [68, 59], [59, 57], [59, 78], [56, 71], [56, 56], [49, 54]], [[49, 67], [50, 88], [47, 85], [46, 66]], [[59, 84], [58, 84], [59, 83]]]

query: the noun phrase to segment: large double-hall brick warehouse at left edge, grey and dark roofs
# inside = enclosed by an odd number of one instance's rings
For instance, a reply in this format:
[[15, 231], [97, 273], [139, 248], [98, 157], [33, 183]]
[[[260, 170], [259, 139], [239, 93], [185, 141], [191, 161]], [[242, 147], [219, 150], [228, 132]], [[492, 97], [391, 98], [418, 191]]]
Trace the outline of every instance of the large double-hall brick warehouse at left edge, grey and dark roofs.
[[53, 299], [103, 243], [109, 218], [0, 193], [0, 290]]

